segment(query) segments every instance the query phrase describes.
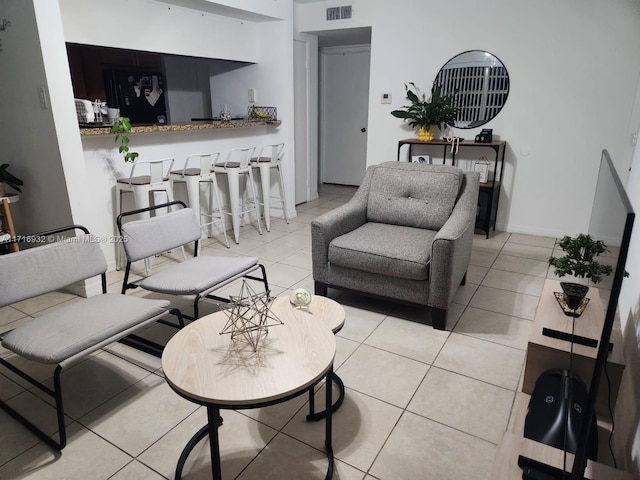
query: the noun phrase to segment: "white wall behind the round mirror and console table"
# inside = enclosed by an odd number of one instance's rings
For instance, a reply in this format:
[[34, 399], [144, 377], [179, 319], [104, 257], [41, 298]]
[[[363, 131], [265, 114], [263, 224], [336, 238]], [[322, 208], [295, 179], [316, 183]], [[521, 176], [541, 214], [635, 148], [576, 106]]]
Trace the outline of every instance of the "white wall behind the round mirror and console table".
[[[389, 113], [406, 104], [405, 82], [428, 91], [450, 58], [487, 50], [511, 81], [504, 109], [485, 125], [508, 142], [498, 229], [548, 236], [587, 229], [600, 151], [625, 172], [638, 128], [637, 115], [630, 124], [640, 77], [637, 1], [350, 3], [353, 20], [335, 24], [325, 20], [335, 2], [300, 5], [296, 27], [372, 27], [368, 165], [395, 160], [397, 141], [414, 135]], [[380, 103], [383, 92], [392, 93], [391, 105]], [[457, 133], [472, 139], [479, 130]]]

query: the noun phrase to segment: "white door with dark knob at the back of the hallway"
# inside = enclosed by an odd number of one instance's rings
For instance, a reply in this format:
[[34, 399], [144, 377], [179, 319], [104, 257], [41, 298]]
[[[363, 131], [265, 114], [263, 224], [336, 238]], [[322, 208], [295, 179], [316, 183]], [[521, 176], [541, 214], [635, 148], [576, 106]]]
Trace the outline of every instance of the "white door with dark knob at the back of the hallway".
[[367, 163], [370, 46], [320, 52], [320, 179], [360, 185]]

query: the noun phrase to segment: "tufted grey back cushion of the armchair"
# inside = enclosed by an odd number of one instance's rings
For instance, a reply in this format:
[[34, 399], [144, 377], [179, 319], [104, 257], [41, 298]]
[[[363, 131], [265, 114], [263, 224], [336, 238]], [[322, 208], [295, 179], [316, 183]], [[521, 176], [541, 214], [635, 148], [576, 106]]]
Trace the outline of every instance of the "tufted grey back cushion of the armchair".
[[378, 165], [371, 175], [369, 222], [440, 230], [456, 203], [464, 173], [448, 165]]

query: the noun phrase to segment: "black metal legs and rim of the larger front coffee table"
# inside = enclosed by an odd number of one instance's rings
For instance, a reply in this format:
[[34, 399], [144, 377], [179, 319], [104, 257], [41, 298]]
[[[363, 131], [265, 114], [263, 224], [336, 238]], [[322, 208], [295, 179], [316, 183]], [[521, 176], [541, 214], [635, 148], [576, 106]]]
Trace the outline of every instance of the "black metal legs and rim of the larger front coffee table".
[[[325, 401], [327, 405], [331, 405], [331, 402], [333, 400], [332, 391], [333, 391], [334, 379], [337, 382], [339, 382], [338, 386], [342, 385], [341, 396], [338, 399], [339, 402], [342, 403], [342, 400], [344, 399], [344, 383], [342, 383], [342, 380], [333, 372], [333, 366], [331, 366], [325, 375], [325, 381], [326, 381], [326, 400]], [[310, 392], [313, 392], [314, 387], [315, 385], [310, 387], [311, 388]], [[243, 405], [241, 408], [249, 409], [249, 408], [258, 408], [258, 407], [267, 407], [270, 405], [276, 405], [278, 403], [282, 403], [294, 397], [297, 397], [304, 392], [306, 392], [306, 390], [297, 392], [293, 395], [289, 395], [288, 397], [278, 399], [276, 401], [261, 403], [259, 405], [249, 405], [249, 406]], [[334, 457], [333, 457], [333, 445], [331, 442], [332, 427], [333, 427], [332, 414], [334, 410], [336, 410], [340, 406], [338, 402], [336, 402], [336, 405], [333, 405], [331, 408], [327, 409], [324, 412], [319, 412], [315, 414], [315, 415], [321, 415], [321, 416], [317, 419], [315, 418], [313, 419], [313, 420], [320, 420], [321, 418], [325, 419], [324, 446], [327, 453], [327, 459], [329, 460], [329, 465], [327, 467], [327, 474], [325, 476], [325, 480], [330, 480], [331, 478], [333, 478]], [[222, 468], [220, 464], [220, 440], [218, 437], [218, 427], [222, 424], [222, 418], [220, 417], [220, 408], [238, 408], [238, 407], [227, 407], [227, 406], [221, 407], [220, 405], [212, 405], [212, 404], [207, 404], [206, 407], [207, 407], [207, 424], [204, 427], [202, 427], [200, 430], [198, 430], [193, 437], [191, 437], [191, 439], [187, 442], [184, 449], [182, 450], [182, 453], [180, 454], [180, 458], [178, 459], [178, 465], [176, 467], [176, 475], [175, 475], [176, 480], [182, 479], [182, 470], [184, 469], [184, 464], [186, 463], [187, 458], [189, 457], [189, 454], [195, 448], [195, 446], [207, 435], [209, 435], [209, 450], [211, 452], [211, 472], [213, 475], [213, 480], [222, 480]], [[309, 417], [307, 417], [307, 419], [309, 419]]]

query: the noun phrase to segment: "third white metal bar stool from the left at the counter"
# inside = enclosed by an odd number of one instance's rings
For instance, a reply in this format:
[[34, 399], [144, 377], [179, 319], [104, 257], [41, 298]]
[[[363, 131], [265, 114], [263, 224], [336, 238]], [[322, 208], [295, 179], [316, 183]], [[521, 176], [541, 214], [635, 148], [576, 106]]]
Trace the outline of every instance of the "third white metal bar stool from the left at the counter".
[[[260, 232], [260, 235], [262, 235], [262, 227], [260, 226], [260, 210], [258, 199], [256, 197], [252, 168], [250, 165], [250, 159], [255, 151], [255, 147], [234, 148], [229, 151], [224, 163], [217, 163], [213, 167], [214, 173], [224, 173], [227, 176], [231, 212], [225, 211], [222, 206], [220, 207], [220, 212], [231, 216], [233, 235], [236, 243], [240, 243], [240, 217], [247, 213], [256, 212], [256, 217], [258, 219], [258, 231]], [[250, 196], [248, 205], [246, 205], [244, 202], [243, 192], [242, 208], [240, 207], [240, 175], [247, 176], [245, 187], [249, 190]]]

